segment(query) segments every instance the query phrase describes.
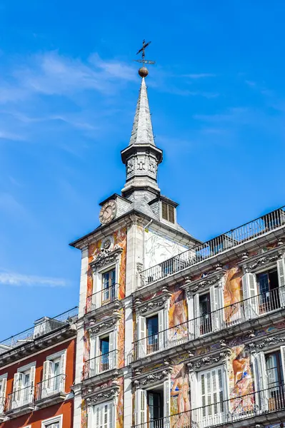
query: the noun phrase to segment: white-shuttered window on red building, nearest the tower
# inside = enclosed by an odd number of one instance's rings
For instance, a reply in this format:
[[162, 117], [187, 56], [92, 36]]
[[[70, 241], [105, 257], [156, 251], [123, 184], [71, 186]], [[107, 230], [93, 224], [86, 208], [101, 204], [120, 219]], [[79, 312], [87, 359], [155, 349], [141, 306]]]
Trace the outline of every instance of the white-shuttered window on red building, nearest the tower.
[[37, 399], [64, 392], [66, 351], [47, 357], [43, 366], [43, 380], [38, 385]]

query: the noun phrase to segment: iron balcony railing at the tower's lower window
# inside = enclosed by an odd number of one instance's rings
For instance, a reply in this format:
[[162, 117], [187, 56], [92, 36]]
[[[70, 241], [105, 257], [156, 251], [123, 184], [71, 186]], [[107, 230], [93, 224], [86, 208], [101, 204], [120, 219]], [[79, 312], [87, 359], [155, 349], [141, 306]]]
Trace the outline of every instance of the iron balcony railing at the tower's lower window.
[[99, 373], [106, 372], [116, 368], [118, 350], [106, 352], [98, 357], [87, 360], [84, 364], [83, 379], [96, 376]]

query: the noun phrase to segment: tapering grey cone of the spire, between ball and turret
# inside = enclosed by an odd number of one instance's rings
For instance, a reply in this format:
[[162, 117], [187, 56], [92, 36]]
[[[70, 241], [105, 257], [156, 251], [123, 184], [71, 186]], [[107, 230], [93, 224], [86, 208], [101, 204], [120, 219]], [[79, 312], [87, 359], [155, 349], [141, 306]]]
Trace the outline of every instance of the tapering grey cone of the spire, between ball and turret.
[[155, 146], [144, 77], [141, 79], [141, 88], [139, 90], [139, 99], [136, 103], [136, 114], [134, 116], [129, 146], [132, 144], [151, 144]]

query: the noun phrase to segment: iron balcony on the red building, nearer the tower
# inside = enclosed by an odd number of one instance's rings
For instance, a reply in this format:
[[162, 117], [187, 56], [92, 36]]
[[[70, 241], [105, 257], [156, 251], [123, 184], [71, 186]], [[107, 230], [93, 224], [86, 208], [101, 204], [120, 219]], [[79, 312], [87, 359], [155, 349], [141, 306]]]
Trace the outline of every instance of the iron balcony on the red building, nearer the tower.
[[65, 399], [65, 374], [45, 379], [36, 385], [36, 406], [46, 407]]

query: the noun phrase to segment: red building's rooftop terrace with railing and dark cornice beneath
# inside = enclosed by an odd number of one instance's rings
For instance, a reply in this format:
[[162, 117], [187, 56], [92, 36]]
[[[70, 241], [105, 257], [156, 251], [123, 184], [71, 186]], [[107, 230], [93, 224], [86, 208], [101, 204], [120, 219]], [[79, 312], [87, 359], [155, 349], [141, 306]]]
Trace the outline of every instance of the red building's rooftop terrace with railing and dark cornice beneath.
[[24, 332], [11, 336], [0, 342], [0, 363], [5, 364], [16, 360], [18, 357], [46, 347], [46, 338], [49, 337], [49, 344], [59, 342], [59, 336], [62, 339], [76, 335], [74, 322], [78, 317], [78, 307], [74, 307], [54, 318], [44, 317], [43, 321], [35, 322]]

